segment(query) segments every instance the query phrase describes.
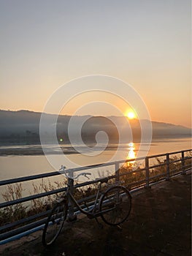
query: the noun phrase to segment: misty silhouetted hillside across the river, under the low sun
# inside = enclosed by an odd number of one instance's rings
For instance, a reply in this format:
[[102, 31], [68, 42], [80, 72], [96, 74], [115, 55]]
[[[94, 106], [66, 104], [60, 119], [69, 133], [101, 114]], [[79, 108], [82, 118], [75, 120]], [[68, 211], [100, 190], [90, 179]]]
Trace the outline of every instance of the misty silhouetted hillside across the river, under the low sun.
[[[40, 143], [39, 140], [39, 121], [42, 113], [28, 110], [7, 111], [0, 110], [0, 141], [2, 143]], [[53, 115], [46, 114], [47, 119]], [[58, 116], [57, 135], [58, 138], [64, 138], [65, 143], [69, 143], [68, 125], [71, 116]], [[87, 119], [85, 121], [85, 119]], [[142, 124], [147, 124], [142, 120]], [[84, 142], [96, 141], [96, 133], [104, 131], [107, 133], [110, 143], [117, 142], [119, 133], [123, 138], [129, 140], [131, 133], [134, 140], [139, 140], [141, 128], [137, 119], [128, 120], [126, 117], [110, 116], [74, 116], [74, 126], [70, 130], [72, 136], [76, 138], [77, 129], [82, 125], [81, 135]], [[174, 124], [165, 124], [153, 121], [153, 138], [182, 138], [191, 137], [191, 129]], [[118, 129], [117, 129], [118, 127]], [[128, 128], [129, 127], [129, 128]], [[47, 131], [51, 127], [47, 127]], [[51, 137], [51, 132], [47, 132], [47, 143]], [[78, 140], [78, 138], [77, 138]]]

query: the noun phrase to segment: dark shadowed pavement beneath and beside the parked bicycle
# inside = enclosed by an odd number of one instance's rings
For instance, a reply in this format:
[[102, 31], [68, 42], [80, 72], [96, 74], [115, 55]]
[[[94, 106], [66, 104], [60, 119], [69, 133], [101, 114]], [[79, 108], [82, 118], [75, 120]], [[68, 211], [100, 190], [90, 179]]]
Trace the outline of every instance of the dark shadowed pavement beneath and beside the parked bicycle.
[[[101, 220], [99, 219], [99, 222]], [[104, 224], [103, 222], [101, 222]], [[42, 231], [2, 245], [2, 256], [191, 256], [191, 174], [133, 195], [131, 215], [121, 228], [78, 217], [51, 249]]]

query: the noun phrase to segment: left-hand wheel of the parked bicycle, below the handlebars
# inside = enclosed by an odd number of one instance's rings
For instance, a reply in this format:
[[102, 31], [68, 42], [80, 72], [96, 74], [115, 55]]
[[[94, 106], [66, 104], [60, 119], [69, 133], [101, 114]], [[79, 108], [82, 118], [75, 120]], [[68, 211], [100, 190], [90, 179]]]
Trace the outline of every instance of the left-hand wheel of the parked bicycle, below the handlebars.
[[61, 232], [67, 214], [67, 203], [66, 201], [56, 203], [53, 207], [50, 215], [47, 217], [45, 227], [42, 233], [42, 244], [44, 246], [52, 245], [59, 233]]

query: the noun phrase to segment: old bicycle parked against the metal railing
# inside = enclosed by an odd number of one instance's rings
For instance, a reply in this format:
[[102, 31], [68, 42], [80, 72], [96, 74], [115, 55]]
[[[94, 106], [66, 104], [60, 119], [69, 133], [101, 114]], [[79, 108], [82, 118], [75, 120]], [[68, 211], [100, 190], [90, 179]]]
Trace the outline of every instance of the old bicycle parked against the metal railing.
[[[80, 173], [76, 178], [79, 176], [88, 178], [88, 175], [91, 175], [91, 173]], [[97, 217], [101, 217], [105, 223], [112, 226], [122, 224], [130, 214], [131, 195], [126, 187], [120, 184], [113, 184], [101, 193], [101, 184], [107, 183], [109, 178], [99, 178], [99, 186], [93, 206], [88, 211], [85, 211], [70, 192], [70, 181], [73, 179], [74, 178], [69, 178], [66, 193], [57, 200], [47, 217], [42, 233], [42, 244], [44, 246], [51, 246], [56, 238], [58, 238], [59, 233], [61, 233], [64, 222], [66, 222], [67, 219], [69, 200], [89, 219], [96, 219], [98, 222]]]

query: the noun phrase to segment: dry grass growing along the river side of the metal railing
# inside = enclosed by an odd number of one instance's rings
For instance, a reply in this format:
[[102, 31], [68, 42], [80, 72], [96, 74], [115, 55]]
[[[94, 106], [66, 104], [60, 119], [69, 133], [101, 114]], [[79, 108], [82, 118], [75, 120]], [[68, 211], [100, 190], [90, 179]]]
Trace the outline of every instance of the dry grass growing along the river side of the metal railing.
[[[191, 153], [188, 153], [187, 157], [192, 157]], [[177, 160], [177, 157], [172, 157], [169, 159], [170, 165], [170, 173], [178, 172], [181, 170], [182, 164], [181, 161], [174, 162]], [[166, 162], [165, 159], [156, 159], [158, 165], [164, 164], [159, 167], [154, 167], [150, 169], [149, 175], [150, 178], [153, 176], [164, 174], [166, 175]], [[189, 165], [191, 167], [191, 159], [185, 159], [185, 165]], [[120, 176], [120, 181], [126, 185], [126, 187], [134, 187], [134, 183], [139, 181], [145, 181], [145, 170], [141, 170], [142, 167], [137, 167], [136, 170], [133, 171], [134, 164], [123, 165], [120, 167], [119, 173], [124, 174]], [[153, 178], [153, 181], [158, 181], [159, 178]], [[115, 182], [114, 179], [109, 182], [111, 184]], [[108, 185], [109, 185], [108, 184]], [[133, 184], [133, 185], [129, 185]], [[103, 184], [102, 189], [106, 188], [106, 184]], [[50, 180], [44, 181], [41, 180], [40, 184], [32, 184], [33, 193], [31, 195], [37, 195], [39, 193], [48, 192], [54, 189], [60, 189], [66, 187], [66, 180], [64, 181], [55, 181], [54, 183]], [[87, 187], [82, 187], [79, 189], [75, 189], [74, 195], [78, 199], [88, 197], [90, 195], [95, 195], [97, 190], [97, 184], [92, 184]], [[17, 200], [23, 197], [23, 189], [22, 184], [9, 184], [4, 193], [1, 193], [2, 197], [5, 201]], [[30, 204], [26, 203], [18, 203], [14, 206], [8, 206], [0, 210], [0, 225], [5, 225], [7, 223], [15, 222], [19, 219], [23, 219], [34, 214], [38, 214], [39, 212], [46, 211], [51, 208], [56, 198], [61, 196], [60, 194], [48, 195], [47, 197], [37, 198], [31, 200]]]

